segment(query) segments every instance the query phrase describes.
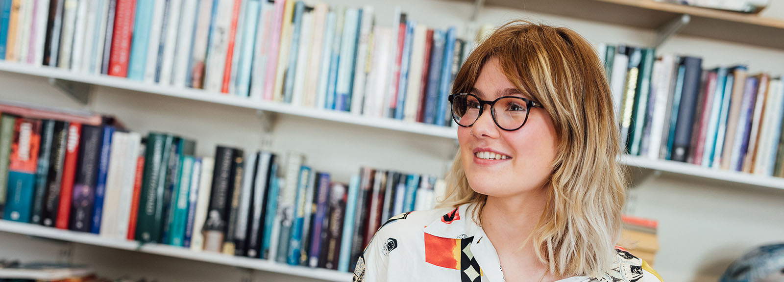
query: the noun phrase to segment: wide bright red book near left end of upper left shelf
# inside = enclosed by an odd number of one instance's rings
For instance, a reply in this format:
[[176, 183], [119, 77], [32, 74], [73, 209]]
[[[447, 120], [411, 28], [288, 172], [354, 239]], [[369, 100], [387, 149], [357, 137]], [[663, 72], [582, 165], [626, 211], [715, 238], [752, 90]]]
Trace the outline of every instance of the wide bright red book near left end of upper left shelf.
[[111, 55], [109, 56], [109, 75], [128, 76], [128, 60], [131, 53], [135, 12], [136, 0], [117, 0], [117, 12], [114, 14], [114, 35], [111, 38]]

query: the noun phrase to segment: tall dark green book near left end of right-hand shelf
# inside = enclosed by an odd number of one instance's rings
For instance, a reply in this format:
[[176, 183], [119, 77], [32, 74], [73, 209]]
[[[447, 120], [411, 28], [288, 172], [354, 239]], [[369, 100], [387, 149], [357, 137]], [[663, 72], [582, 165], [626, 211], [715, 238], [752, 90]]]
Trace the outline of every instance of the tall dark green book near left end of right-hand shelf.
[[640, 155], [642, 137], [644, 134], [645, 116], [648, 114], [648, 96], [651, 94], [651, 76], [653, 75], [653, 62], [656, 60], [655, 49], [646, 48], [642, 50], [642, 60], [640, 63], [640, 75], [637, 75], [637, 98], [632, 110], [632, 125], [629, 128], [630, 142], [628, 145], [629, 153], [632, 156]]

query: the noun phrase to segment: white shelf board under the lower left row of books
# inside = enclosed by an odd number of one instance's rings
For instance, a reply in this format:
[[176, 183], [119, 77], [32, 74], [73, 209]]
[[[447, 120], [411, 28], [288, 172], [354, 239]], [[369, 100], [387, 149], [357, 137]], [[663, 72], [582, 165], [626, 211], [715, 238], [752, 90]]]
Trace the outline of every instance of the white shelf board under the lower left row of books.
[[130, 240], [113, 240], [97, 236], [93, 233], [82, 233], [71, 230], [56, 229], [29, 223], [9, 222], [0, 220], [0, 232], [16, 233], [27, 236], [63, 240], [78, 244], [88, 244], [114, 249], [140, 251], [147, 254], [163, 255], [172, 258], [185, 258], [198, 262], [211, 262], [225, 266], [237, 266], [246, 269], [257, 269], [270, 273], [282, 273], [297, 277], [308, 277], [325, 281], [350, 281], [351, 273], [343, 273], [330, 269], [317, 269], [305, 266], [289, 266], [278, 262], [270, 262], [260, 258], [245, 258], [211, 252], [191, 251], [184, 247], [173, 247], [164, 244], [140, 244]]

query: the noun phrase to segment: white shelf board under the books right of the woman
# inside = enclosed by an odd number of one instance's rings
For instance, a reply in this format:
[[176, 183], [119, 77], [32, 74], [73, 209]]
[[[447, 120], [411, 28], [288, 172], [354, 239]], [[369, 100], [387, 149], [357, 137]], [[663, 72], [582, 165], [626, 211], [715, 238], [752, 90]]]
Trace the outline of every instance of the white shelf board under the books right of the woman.
[[664, 159], [648, 159], [640, 156], [622, 156], [621, 163], [630, 167], [659, 170], [672, 174], [684, 174], [695, 178], [709, 178], [718, 181], [756, 185], [774, 189], [784, 189], [784, 178], [746, 174], [738, 171], [718, 170], [700, 167], [691, 163], [681, 163]]

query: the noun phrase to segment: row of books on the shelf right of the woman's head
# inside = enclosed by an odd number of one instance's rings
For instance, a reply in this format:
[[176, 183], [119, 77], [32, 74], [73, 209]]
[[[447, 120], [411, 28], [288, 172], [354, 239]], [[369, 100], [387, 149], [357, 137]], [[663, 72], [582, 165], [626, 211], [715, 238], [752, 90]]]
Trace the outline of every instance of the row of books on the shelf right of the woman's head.
[[633, 156], [784, 175], [784, 85], [745, 65], [601, 46], [622, 145]]

